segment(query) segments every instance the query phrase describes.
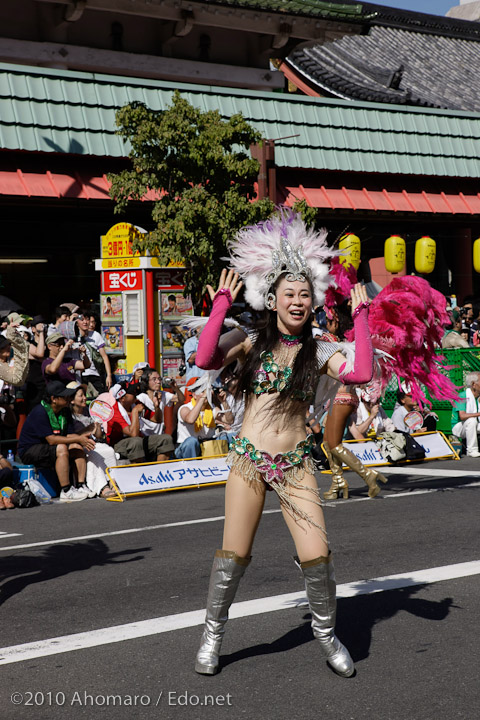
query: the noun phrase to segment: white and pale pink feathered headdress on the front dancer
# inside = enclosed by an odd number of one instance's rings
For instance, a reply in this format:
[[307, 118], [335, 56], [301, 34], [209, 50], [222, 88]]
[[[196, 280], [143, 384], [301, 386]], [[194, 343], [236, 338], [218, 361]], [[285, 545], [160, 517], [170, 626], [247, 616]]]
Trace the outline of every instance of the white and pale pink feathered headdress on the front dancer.
[[336, 254], [326, 243], [326, 230], [307, 228], [302, 216], [281, 208], [269, 220], [249, 225], [227, 246], [231, 267], [245, 283], [245, 300], [254, 310], [272, 309], [273, 285], [287, 280], [309, 280], [315, 306], [323, 305], [330, 278], [327, 262]]

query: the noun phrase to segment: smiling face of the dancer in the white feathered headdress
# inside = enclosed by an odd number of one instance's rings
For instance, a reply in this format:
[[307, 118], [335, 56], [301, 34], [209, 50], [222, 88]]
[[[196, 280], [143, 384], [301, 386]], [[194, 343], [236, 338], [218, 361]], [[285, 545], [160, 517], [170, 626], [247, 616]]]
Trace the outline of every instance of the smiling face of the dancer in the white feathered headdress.
[[280, 332], [300, 335], [313, 309], [312, 289], [308, 280], [291, 281], [282, 277], [277, 285], [275, 298]]

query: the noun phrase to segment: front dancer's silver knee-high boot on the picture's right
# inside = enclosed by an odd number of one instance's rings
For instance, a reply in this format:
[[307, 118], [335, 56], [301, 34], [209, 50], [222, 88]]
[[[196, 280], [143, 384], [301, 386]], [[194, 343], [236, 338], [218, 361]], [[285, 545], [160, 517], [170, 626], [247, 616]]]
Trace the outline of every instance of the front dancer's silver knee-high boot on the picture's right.
[[337, 613], [335, 571], [332, 556], [319, 557], [297, 565], [305, 578], [308, 603], [312, 613], [312, 630], [320, 642], [323, 655], [338, 675], [351, 677], [355, 672], [353, 660], [347, 648], [335, 635]]

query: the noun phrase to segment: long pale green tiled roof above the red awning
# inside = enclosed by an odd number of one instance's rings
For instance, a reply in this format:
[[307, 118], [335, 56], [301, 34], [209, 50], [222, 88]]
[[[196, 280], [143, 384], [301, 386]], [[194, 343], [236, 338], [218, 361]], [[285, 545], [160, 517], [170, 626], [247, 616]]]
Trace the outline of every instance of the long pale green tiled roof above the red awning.
[[124, 157], [115, 110], [162, 110], [177, 87], [202, 110], [242, 112], [277, 141], [279, 167], [480, 177], [479, 114], [2, 64], [0, 148]]

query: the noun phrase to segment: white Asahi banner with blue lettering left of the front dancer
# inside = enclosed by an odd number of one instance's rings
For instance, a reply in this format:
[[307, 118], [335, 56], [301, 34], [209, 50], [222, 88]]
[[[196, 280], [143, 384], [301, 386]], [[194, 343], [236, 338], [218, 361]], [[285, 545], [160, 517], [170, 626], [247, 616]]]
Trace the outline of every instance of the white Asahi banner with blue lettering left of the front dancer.
[[108, 472], [120, 492], [129, 494], [225, 482], [229, 468], [225, 457], [212, 457], [122, 465], [108, 468]]

